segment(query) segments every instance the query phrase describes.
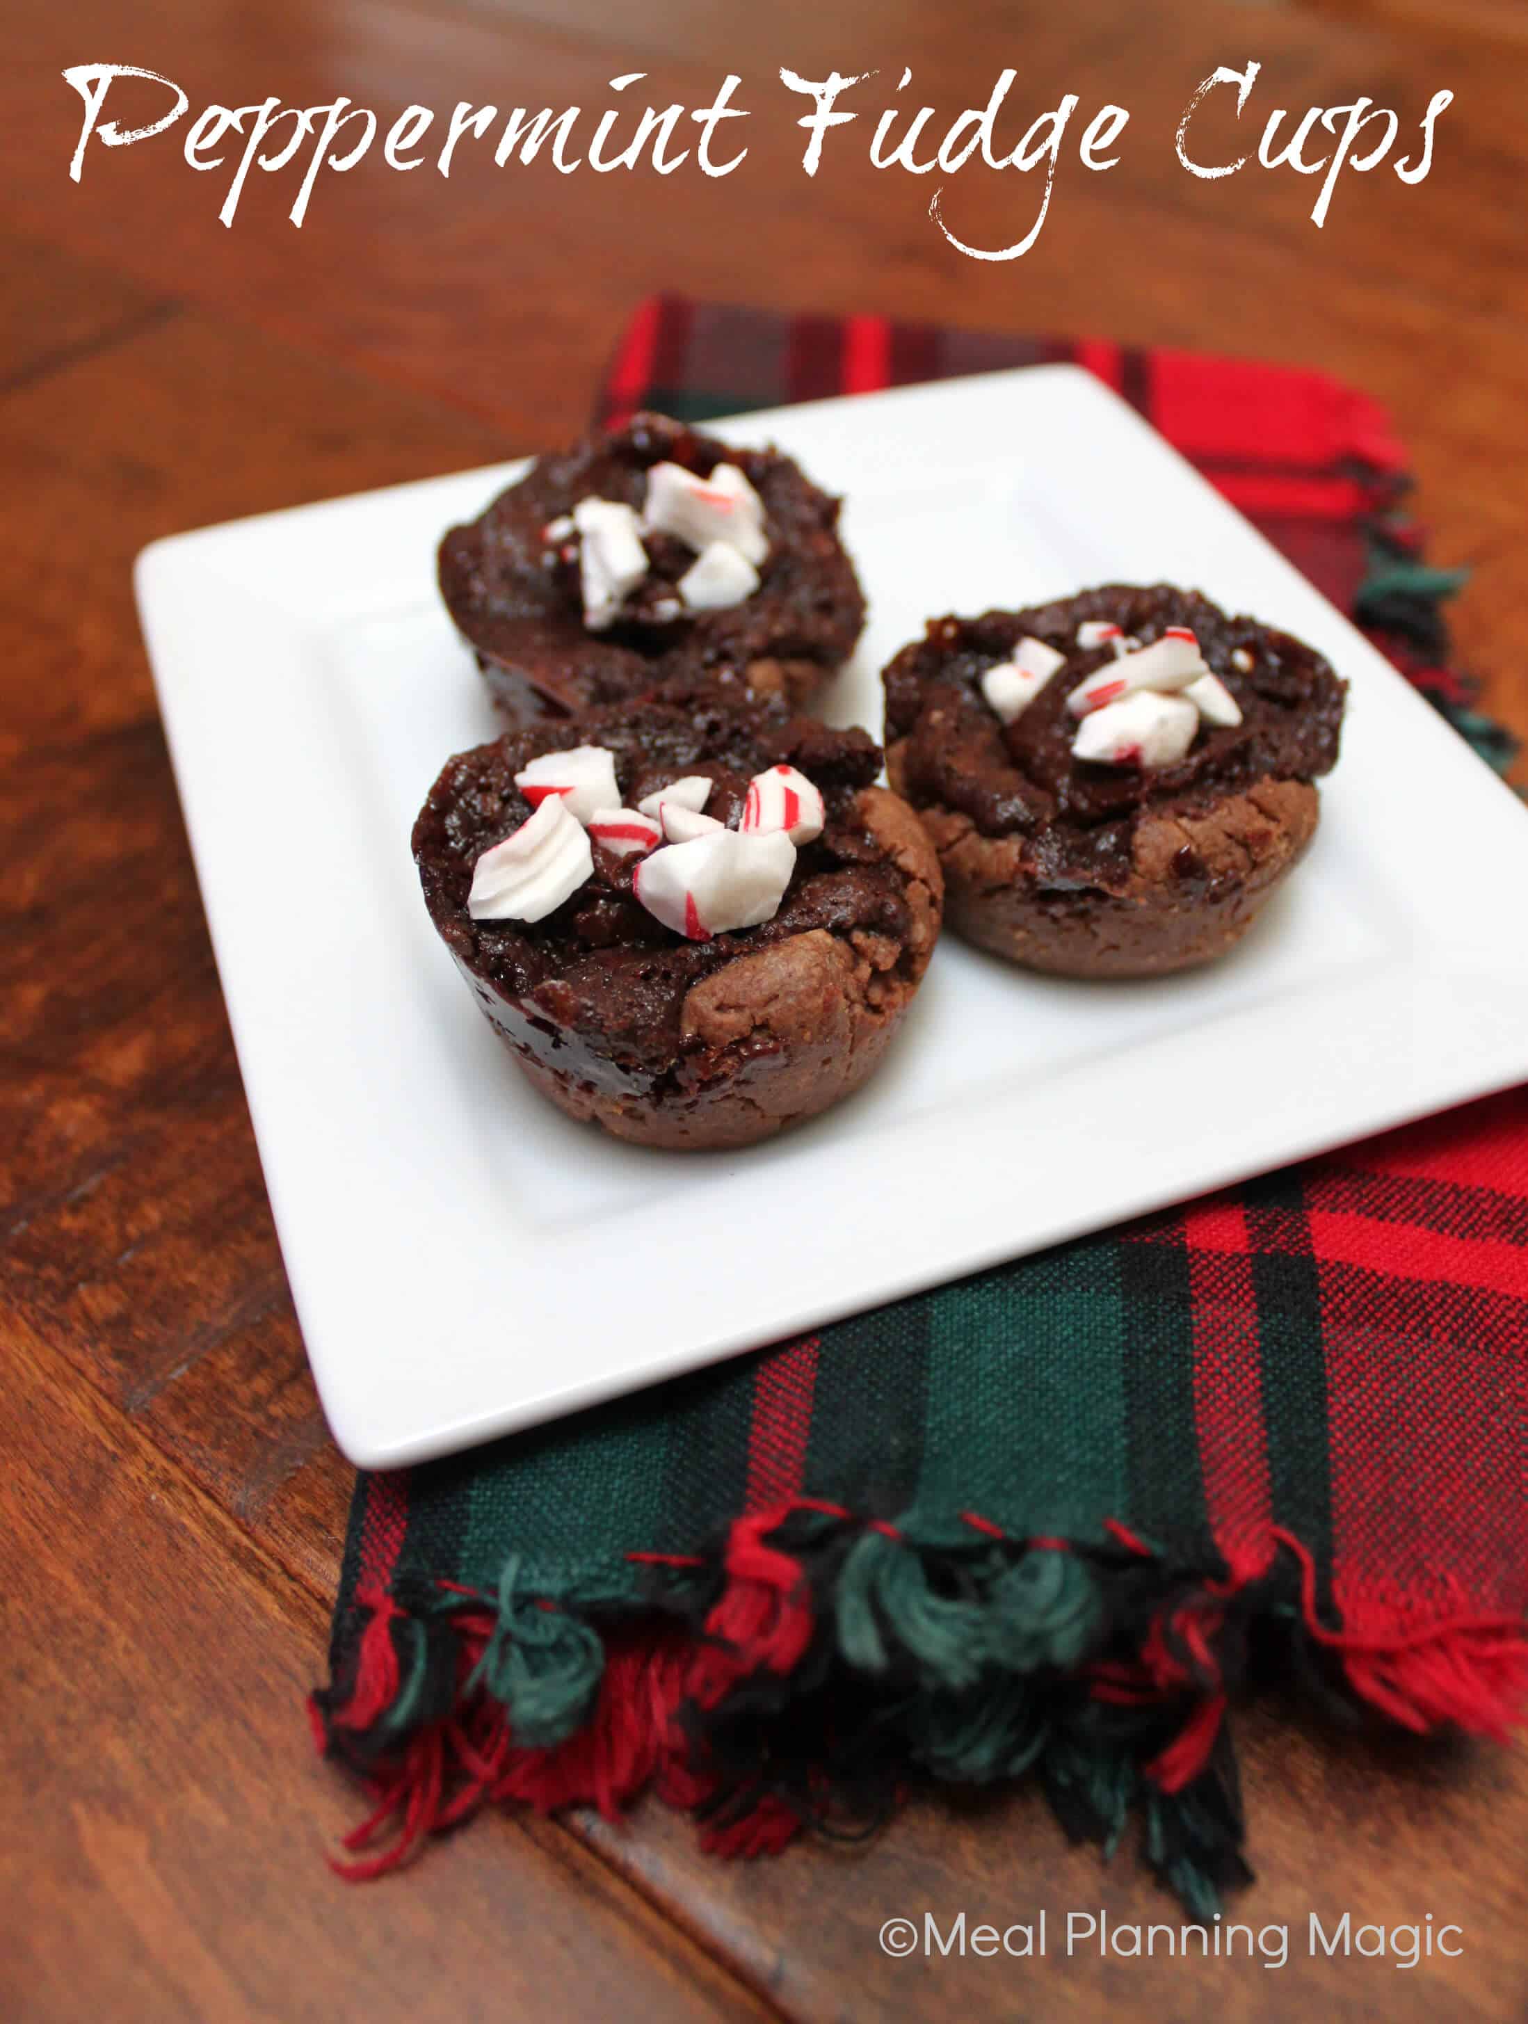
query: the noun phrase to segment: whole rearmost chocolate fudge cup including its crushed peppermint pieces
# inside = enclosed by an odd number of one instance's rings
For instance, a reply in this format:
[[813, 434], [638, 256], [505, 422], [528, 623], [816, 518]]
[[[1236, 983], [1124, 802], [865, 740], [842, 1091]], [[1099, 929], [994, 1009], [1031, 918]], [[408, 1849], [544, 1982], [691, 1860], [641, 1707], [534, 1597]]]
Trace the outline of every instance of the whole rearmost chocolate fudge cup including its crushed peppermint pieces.
[[795, 708], [864, 625], [838, 500], [773, 449], [662, 415], [538, 457], [445, 534], [439, 585], [512, 723], [664, 682]]

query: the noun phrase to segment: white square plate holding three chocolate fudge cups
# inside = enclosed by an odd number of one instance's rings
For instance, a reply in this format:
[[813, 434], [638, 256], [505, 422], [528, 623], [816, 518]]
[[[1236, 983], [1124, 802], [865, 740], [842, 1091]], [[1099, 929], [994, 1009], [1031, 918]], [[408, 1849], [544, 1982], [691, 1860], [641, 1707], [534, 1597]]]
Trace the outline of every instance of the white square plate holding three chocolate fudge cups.
[[718, 423], [846, 494], [870, 623], [1160, 577], [1352, 682], [1299, 874], [1226, 961], [1032, 978], [945, 939], [850, 1103], [654, 1154], [536, 1097], [435, 939], [409, 828], [492, 710], [441, 530], [522, 466], [156, 542], [138, 595], [308, 1354], [393, 1465], [652, 1384], [1528, 1077], [1528, 820], [1409, 684], [1073, 366]]

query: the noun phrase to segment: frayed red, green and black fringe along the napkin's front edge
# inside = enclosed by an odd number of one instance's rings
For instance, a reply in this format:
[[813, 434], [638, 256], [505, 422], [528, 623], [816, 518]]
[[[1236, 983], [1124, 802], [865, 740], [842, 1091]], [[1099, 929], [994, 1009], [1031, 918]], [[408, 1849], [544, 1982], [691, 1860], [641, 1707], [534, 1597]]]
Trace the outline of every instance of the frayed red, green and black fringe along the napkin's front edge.
[[1014, 1538], [978, 1512], [890, 1524], [797, 1498], [708, 1552], [627, 1565], [623, 1587], [546, 1593], [516, 1556], [492, 1595], [358, 1593], [350, 1676], [312, 1698], [320, 1749], [374, 1801], [340, 1874], [399, 1868], [486, 1803], [613, 1820], [646, 1787], [712, 1854], [773, 1854], [803, 1826], [858, 1838], [911, 1763], [1034, 1773], [1105, 1854], [1139, 1816], [1148, 1864], [1212, 1917], [1251, 1878], [1228, 1704], [1263, 1660], [1348, 1720], [1368, 1706], [1417, 1733], [1500, 1739], [1528, 1702], [1528, 1625], [1360, 1633], [1279, 1528], [1235, 1565], [1174, 1567], [1113, 1520]]

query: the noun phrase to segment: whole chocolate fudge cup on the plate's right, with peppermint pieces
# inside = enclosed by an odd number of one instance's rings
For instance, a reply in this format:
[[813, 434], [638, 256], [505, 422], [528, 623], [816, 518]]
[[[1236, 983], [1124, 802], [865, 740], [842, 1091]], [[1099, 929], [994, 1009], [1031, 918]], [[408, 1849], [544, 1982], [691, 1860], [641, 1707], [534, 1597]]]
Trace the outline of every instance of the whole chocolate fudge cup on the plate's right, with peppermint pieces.
[[1315, 832], [1346, 694], [1299, 640], [1166, 583], [931, 619], [884, 684], [949, 925], [1069, 978], [1241, 941]]

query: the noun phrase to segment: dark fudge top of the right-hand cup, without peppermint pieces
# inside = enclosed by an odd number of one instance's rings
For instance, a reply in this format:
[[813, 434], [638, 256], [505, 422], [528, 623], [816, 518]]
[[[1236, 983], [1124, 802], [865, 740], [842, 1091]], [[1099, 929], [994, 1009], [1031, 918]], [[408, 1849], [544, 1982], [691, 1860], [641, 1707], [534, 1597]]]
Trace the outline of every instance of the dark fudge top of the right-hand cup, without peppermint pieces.
[[[1067, 696], [1113, 648], [1077, 648], [1077, 627], [1107, 619], [1150, 646], [1188, 625], [1210, 670], [1243, 712], [1235, 729], [1200, 725], [1178, 765], [1137, 771], [1073, 759], [1077, 719]], [[1024, 636], [1044, 640], [1058, 668], [1012, 725], [982, 694], [988, 668], [1012, 658]], [[1253, 656], [1249, 672], [1233, 654]], [[1117, 887], [1129, 870], [1131, 832], [1143, 812], [1198, 814], [1259, 779], [1311, 781], [1336, 765], [1346, 684], [1289, 634], [1228, 617], [1198, 591], [1170, 583], [1109, 583], [1079, 597], [931, 619], [884, 672], [886, 743], [907, 739], [905, 787], [915, 808], [969, 816], [982, 836], [1020, 834], [1042, 884]]]

